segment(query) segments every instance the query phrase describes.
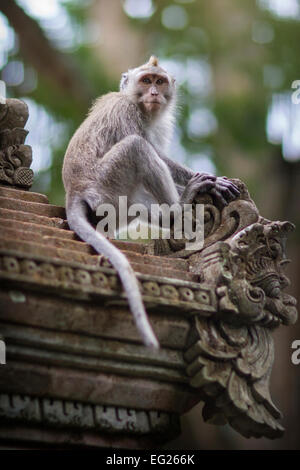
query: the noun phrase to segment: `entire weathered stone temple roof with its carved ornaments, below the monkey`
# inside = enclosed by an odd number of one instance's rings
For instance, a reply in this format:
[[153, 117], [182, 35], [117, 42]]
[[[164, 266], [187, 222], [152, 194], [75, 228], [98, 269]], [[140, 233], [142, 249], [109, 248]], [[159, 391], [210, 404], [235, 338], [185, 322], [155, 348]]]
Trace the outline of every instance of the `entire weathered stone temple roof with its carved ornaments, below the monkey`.
[[296, 321], [289, 222], [241, 196], [205, 207], [205, 243], [112, 241], [136, 272], [159, 350], [142, 344], [116, 271], [78, 239], [63, 207], [28, 191], [28, 110], [0, 105], [0, 446], [150, 448], [180, 415], [245, 437], [280, 437], [269, 393], [271, 332]]

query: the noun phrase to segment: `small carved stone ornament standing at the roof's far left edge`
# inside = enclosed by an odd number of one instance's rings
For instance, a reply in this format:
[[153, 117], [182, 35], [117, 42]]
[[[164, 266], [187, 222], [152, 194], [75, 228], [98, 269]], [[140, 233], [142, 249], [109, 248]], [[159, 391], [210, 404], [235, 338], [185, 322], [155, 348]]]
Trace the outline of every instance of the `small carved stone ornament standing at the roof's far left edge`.
[[7, 99], [0, 104], [0, 183], [22, 189], [29, 189], [33, 183], [32, 151], [24, 145], [27, 119], [28, 108], [23, 101]]

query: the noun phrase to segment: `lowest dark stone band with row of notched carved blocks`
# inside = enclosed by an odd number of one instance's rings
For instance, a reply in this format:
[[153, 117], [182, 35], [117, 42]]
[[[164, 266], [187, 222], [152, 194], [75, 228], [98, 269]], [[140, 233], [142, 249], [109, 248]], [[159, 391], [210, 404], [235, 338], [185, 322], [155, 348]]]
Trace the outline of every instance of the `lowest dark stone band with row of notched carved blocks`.
[[[178, 415], [84, 402], [0, 394], [2, 423], [45, 424], [50, 428], [93, 430], [112, 434], [171, 434], [180, 430]], [[3, 424], [4, 424], [3, 423]]]

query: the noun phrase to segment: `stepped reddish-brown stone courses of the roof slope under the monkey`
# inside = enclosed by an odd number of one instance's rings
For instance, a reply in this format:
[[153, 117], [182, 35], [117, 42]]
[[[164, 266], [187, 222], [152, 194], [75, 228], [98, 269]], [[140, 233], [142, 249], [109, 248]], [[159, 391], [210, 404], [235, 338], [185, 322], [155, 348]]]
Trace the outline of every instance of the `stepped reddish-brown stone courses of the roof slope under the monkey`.
[[[49, 204], [43, 194], [0, 187], [2, 247], [31, 254], [111, 267], [68, 227], [64, 207]], [[153, 256], [153, 244], [111, 240], [130, 260], [137, 273], [199, 282], [188, 261]]]

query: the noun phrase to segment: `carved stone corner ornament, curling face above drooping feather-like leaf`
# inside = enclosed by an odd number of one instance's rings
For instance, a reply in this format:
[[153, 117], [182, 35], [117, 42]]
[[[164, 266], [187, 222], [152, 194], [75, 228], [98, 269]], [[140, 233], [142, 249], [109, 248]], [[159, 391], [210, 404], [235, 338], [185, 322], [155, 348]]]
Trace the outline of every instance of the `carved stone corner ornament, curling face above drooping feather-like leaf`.
[[[233, 204], [238, 210], [239, 201]], [[210, 318], [194, 317], [185, 352], [190, 384], [205, 402], [205, 421], [229, 423], [245, 437], [273, 439], [284, 431], [269, 392], [271, 333], [297, 319], [296, 300], [283, 292], [285, 242], [293, 229], [259, 217], [190, 257], [192, 271], [215, 287], [218, 304]]]

